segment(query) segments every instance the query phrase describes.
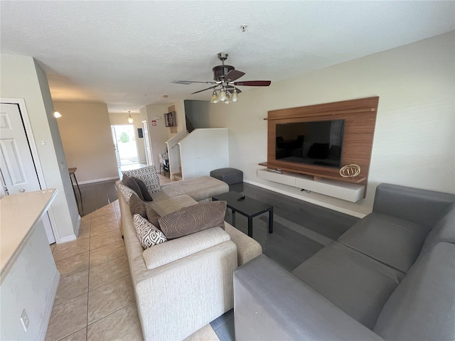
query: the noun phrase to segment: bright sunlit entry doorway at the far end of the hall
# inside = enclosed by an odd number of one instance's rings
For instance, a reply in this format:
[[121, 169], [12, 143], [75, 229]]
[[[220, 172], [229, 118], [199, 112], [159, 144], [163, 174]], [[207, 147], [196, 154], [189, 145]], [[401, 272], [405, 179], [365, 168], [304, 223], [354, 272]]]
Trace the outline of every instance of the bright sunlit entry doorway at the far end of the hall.
[[111, 126], [111, 131], [117, 157], [117, 166], [139, 163], [134, 126], [132, 124]]

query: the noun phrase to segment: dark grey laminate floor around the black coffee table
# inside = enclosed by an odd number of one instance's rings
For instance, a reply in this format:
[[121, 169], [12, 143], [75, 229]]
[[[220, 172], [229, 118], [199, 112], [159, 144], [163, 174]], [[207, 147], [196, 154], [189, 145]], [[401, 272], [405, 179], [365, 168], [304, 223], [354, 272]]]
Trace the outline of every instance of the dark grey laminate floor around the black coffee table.
[[[274, 206], [273, 233], [268, 233], [269, 215], [265, 213], [253, 220], [253, 238], [261, 244], [263, 254], [288, 271], [294, 270], [358, 222], [356, 217], [248, 183], [230, 185], [230, 190]], [[232, 222], [230, 212], [226, 213], [225, 220]], [[247, 218], [236, 213], [235, 221], [235, 227], [246, 234]], [[210, 325], [221, 341], [235, 340], [233, 310]]]

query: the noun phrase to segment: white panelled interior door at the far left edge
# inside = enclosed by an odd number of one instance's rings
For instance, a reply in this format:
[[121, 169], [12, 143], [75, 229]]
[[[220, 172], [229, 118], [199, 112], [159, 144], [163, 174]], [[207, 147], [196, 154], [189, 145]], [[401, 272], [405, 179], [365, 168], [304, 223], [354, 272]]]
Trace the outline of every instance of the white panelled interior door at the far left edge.
[[[0, 172], [6, 195], [41, 190], [18, 104], [0, 104]], [[43, 217], [49, 244], [55, 242], [48, 215]]]

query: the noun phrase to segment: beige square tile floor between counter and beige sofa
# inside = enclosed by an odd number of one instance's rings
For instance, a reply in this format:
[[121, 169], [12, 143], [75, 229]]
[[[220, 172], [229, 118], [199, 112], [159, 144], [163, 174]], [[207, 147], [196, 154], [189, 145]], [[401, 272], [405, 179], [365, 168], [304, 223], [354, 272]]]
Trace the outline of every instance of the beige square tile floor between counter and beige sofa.
[[[143, 340], [119, 203], [82, 217], [77, 240], [50, 245], [60, 284], [45, 340]], [[210, 325], [188, 340], [218, 340]]]

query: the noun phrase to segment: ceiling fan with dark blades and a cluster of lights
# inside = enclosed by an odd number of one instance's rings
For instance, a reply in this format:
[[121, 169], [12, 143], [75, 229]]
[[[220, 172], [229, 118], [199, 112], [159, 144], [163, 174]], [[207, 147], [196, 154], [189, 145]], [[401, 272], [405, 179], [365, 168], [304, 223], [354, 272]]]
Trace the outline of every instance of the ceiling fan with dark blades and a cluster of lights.
[[221, 60], [222, 65], [213, 67], [213, 82], [199, 82], [196, 80], [174, 80], [173, 83], [185, 85], [191, 83], [204, 83], [212, 85], [203, 90], [191, 93], [197, 94], [198, 92], [213, 89], [212, 99], [210, 100], [212, 103], [237, 102], [239, 99], [238, 94], [242, 92], [239, 88], [237, 88], [237, 86], [268, 87], [270, 83], [272, 83], [269, 80], [246, 80], [244, 82], [235, 82], [235, 80], [238, 80], [240, 77], [245, 75], [245, 72], [235, 70], [235, 67], [232, 65], [225, 65], [225, 60], [228, 59], [228, 53], [218, 53], [218, 59]]

